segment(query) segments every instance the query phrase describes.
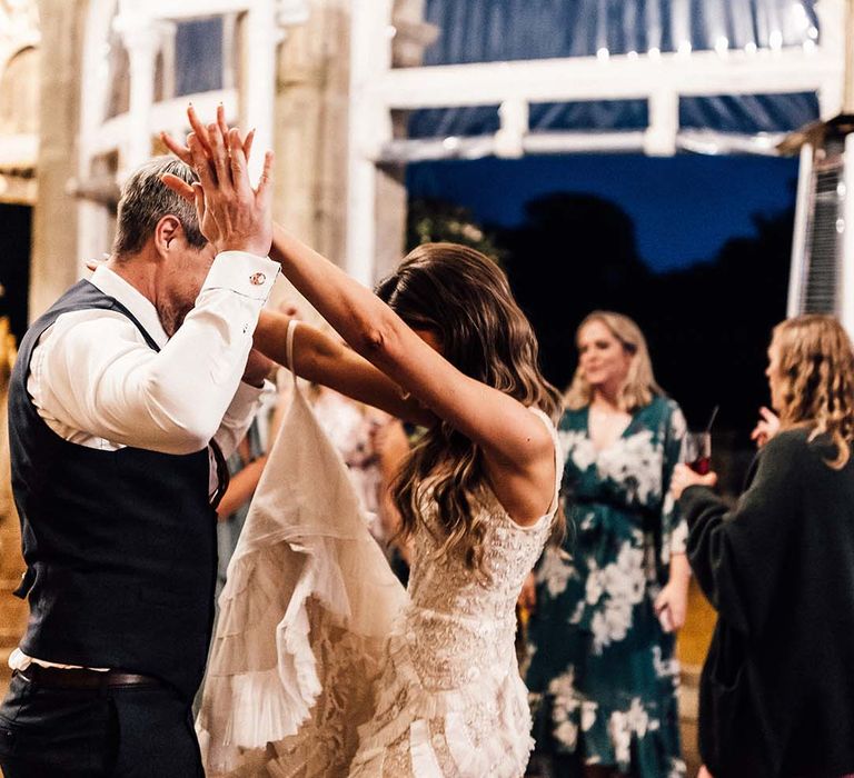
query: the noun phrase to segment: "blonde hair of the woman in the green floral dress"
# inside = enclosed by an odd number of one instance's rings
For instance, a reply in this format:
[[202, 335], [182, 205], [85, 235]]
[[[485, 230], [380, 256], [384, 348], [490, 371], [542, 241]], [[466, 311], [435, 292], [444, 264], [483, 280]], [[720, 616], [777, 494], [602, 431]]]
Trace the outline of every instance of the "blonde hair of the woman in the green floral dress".
[[[627, 316], [614, 311], [593, 311], [578, 325], [575, 331], [575, 341], [582, 335], [582, 330], [589, 323], [598, 321], [608, 328], [610, 333], [623, 345], [625, 351], [632, 355], [632, 363], [623, 386], [619, 388], [617, 403], [620, 410], [632, 411], [636, 408], [648, 406], [653, 397], [663, 396], [664, 390], [658, 386], [653, 373], [653, 362], [649, 359], [649, 349], [646, 347], [646, 338], [640, 328]], [[575, 369], [575, 375], [569, 388], [564, 396], [564, 403], [572, 410], [578, 410], [590, 405], [593, 389], [584, 377], [580, 362]]]

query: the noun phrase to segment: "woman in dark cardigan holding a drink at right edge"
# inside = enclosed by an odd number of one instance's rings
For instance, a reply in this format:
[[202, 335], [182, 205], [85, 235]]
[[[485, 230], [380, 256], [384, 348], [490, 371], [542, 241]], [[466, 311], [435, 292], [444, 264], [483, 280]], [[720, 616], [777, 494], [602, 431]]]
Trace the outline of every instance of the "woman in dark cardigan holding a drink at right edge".
[[828, 316], [777, 325], [748, 486], [677, 467], [688, 558], [718, 612], [699, 688], [715, 778], [854, 772], [854, 357]]

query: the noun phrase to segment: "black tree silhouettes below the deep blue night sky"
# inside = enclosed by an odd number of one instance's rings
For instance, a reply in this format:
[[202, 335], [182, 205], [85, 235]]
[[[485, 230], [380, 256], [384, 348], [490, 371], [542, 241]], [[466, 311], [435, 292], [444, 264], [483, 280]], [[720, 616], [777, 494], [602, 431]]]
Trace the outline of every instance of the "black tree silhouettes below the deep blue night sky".
[[[688, 422], [704, 426], [719, 405], [716, 429], [728, 430], [736, 447], [749, 445], [757, 409], [768, 402], [771, 330], [786, 312], [793, 211], [756, 216], [754, 235], [728, 241], [716, 258], [656, 275], [638, 256], [628, 215], [592, 194], [533, 200], [513, 229], [483, 229], [465, 209], [439, 201], [415, 206], [410, 243], [429, 226], [430, 239], [468, 242], [503, 258], [537, 331], [544, 370], [558, 387], [575, 369], [578, 322], [595, 309], [627, 313], [649, 341], [658, 382]], [[461, 241], [460, 232], [484, 239]]]

